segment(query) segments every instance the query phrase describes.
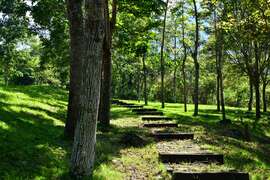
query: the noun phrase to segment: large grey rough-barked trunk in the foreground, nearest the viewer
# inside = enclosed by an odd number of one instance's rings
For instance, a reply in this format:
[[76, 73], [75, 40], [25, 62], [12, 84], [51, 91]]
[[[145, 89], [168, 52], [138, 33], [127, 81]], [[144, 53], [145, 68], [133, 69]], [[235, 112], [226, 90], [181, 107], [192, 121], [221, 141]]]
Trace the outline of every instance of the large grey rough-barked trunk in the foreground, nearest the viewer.
[[[73, 10], [78, 1], [69, 0]], [[81, 5], [81, 4], [80, 4]], [[78, 117], [71, 155], [71, 174], [80, 179], [93, 172], [96, 144], [96, 125], [100, 96], [102, 46], [105, 34], [104, 0], [86, 0], [83, 4], [84, 34], [81, 81], [78, 98]], [[71, 18], [71, 24], [72, 18]]]

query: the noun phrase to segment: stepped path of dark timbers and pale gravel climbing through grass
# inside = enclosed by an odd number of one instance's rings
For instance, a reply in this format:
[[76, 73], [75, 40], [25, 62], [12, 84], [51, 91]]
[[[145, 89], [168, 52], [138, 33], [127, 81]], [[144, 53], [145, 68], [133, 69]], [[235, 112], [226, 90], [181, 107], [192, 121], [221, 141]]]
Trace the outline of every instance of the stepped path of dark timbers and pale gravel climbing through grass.
[[[112, 101], [112, 103], [132, 107], [134, 104], [122, 101]], [[134, 107], [135, 108], [135, 107]], [[163, 115], [157, 109], [133, 109], [138, 115]], [[223, 154], [215, 154], [201, 148], [194, 139], [193, 133], [183, 132], [163, 132], [155, 131], [162, 128], [177, 128], [178, 124], [172, 118], [166, 116], [144, 116], [143, 121], [156, 121], [155, 123], [143, 123], [143, 127], [152, 128], [151, 136], [159, 140], [157, 149], [159, 158], [167, 167], [168, 172], [172, 173], [174, 180], [249, 180], [248, 173], [237, 172], [235, 170], [219, 170], [224, 163]], [[160, 121], [166, 122], [160, 122]], [[187, 164], [190, 163], [190, 164]], [[198, 164], [200, 163], [200, 164]], [[216, 163], [217, 168], [208, 169], [208, 164]], [[186, 167], [188, 166], [188, 167]], [[200, 168], [206, 166], [207, 170]], [[195, 170], [196, 167], [199, 170]]]

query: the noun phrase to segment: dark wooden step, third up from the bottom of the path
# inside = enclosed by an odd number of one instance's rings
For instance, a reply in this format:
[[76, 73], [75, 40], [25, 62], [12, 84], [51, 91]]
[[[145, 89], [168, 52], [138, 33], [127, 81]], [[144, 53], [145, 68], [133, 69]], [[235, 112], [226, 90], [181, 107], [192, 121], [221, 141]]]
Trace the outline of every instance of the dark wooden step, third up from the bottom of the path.
[[193, 133], [153, 133], [158, 140], [171, 140], [171, 139], [194, 139]]

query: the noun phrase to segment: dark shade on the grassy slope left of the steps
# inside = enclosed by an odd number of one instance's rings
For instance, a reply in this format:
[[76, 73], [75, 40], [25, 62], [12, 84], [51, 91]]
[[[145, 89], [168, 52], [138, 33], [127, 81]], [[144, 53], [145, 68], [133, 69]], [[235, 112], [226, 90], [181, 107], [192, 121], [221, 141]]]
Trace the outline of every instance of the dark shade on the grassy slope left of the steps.
[[[55, 108], [63, 107], [59, 102], [65, 104], [66, 97], [63, 96], [66, 94], [61, 94], [61, 91], [34, 87], [32, 92], [30, 87], [20, 88], [5, 89], [26, 93]], [[47, 101], [48, 97], [55, 102]], [[31, 101], [31, 98], [27, 100]], [[9, 99], [8, 96], [0, 97], [0, 179], [71, 179], [68, 171], [72, 142], [63, 137], [63, 124], [58, 125], [54, 120], [64, 122], [66, 110], [58, 108], [55, 112], [43, 106], [25, 104], [19, 96], [16, 103], [6, 102], [6, 99]], [[41, 112], [47, 116], [40, 115]], [[114, 120], [131, 116], [129, 109], [116, 109], [112, 113]], [[120, 150], [128, 147], [121, 143], [121, 137], [130, 132], [143, 137], [147, 135], [137, 127], [111, 126], [109, 132], [98, 131], [95, 169], [120, 156]], [[150, 143], [152, 140], [147, 141], [147, 145]]]

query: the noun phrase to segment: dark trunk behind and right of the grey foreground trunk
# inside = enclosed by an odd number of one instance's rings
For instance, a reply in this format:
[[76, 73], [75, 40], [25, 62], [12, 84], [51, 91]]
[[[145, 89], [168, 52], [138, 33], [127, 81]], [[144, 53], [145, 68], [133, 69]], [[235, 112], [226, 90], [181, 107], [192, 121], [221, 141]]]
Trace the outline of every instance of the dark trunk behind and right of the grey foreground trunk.
[[106, 37], [103, 42], [103, 62], [101, 96], [98, 119], [104, 126], [110, 125], [111, 109], [111, 83], [112, 83], [112, 33], [116, 23], [116, 0], [112, 4], [112, 17], [110, 18], [109, 1], [105, 0]]

